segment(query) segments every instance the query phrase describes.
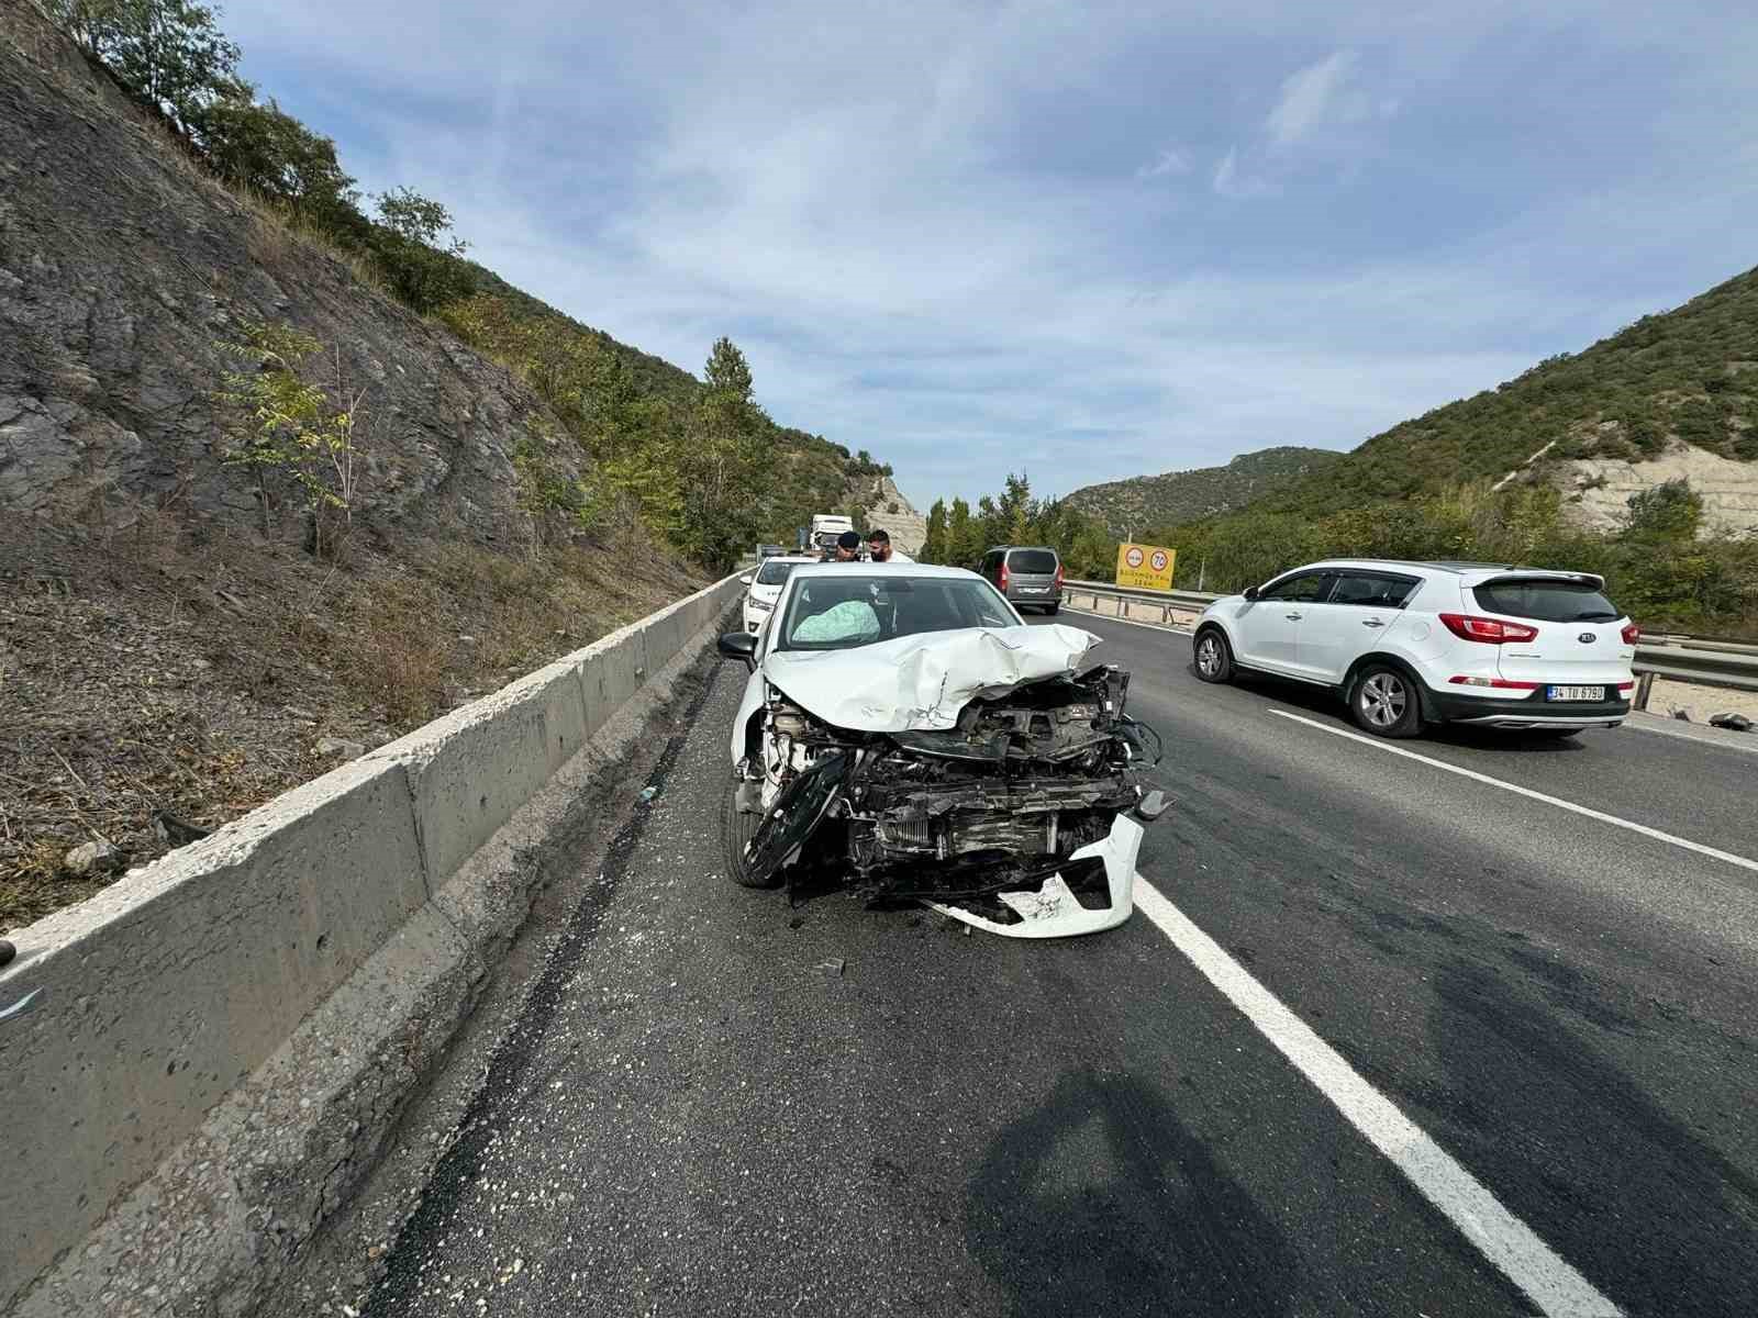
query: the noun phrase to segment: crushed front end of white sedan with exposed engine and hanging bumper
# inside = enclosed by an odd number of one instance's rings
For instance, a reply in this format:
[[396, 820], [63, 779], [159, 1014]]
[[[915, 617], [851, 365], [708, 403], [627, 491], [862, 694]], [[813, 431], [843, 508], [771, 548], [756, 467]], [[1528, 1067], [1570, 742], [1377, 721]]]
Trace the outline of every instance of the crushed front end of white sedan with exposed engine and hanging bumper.
[[1120, 924], [1141, 828], [1166, 808], [1141, 782], [1160, 740], [1127, 694], [1101, 664], [974, 698], [951, 728], [854, 731], [766, 685], [737, 764], [735, 877], [835, 868], [875, 902], [1011, 937]]

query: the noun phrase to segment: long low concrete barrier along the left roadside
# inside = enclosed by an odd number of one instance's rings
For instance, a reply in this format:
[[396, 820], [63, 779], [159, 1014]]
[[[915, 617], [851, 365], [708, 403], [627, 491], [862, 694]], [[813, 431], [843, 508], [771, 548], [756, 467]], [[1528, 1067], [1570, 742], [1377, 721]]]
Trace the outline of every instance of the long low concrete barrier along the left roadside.
[[[16, 931], [0, 1313], [244, 1313], [529, 912], [519, 849], [712, 643], [726, 578]], [[529, 866], [524, 866], [529, 870]]]

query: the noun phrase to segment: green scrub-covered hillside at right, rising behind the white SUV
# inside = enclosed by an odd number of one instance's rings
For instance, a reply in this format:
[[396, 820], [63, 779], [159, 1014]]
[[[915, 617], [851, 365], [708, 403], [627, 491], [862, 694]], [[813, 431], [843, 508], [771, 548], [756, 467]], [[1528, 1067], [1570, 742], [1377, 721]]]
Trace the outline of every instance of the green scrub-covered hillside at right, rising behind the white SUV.
[[[1733, 474], [1732, 464], [1758, 460], [1758, 271], [1401, 422], [1259, 510], [1322, 517], [1514, 471], [1580, 492], [1600, 474], [1582, 464], [1640, 469], [1681, 446], [1707, 455], [1698, 467]], [[1707, 520], [1723, 522], [1714, 492], [1702, 492]]]

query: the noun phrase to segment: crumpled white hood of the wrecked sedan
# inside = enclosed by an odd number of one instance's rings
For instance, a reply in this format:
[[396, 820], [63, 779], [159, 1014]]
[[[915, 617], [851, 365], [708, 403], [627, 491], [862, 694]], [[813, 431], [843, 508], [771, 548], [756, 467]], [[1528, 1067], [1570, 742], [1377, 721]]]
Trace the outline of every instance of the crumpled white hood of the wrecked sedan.
[[779, 650], [763, 661], [763, 675], [833, 728], [944, 731], [972, 699], [1083, 671], [1099, 641], [1067, 624], [965, 627], [854, 650]]

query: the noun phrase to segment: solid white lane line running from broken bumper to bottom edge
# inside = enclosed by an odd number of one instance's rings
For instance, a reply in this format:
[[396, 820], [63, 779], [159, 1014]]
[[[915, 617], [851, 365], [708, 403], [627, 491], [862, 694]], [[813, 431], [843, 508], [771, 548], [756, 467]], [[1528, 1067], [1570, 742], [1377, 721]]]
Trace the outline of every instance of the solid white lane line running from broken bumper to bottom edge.
[[1563, 1262], [1524, 1221], [1508, 1213], [1452, 1155], [1429, 1139], [1384, 1093], [1364, 1081], [1343, 1056], [1299, 1016], [1222, 951], [1141, 873], [1136, 910], [1153, 921], [1173, 945], [1257, 1026], [1294, 1068], [1329, 1098], [1427, 1202], [1507, 1278], [1552, 1318], [1617, 1318], [1619, 1309]]

